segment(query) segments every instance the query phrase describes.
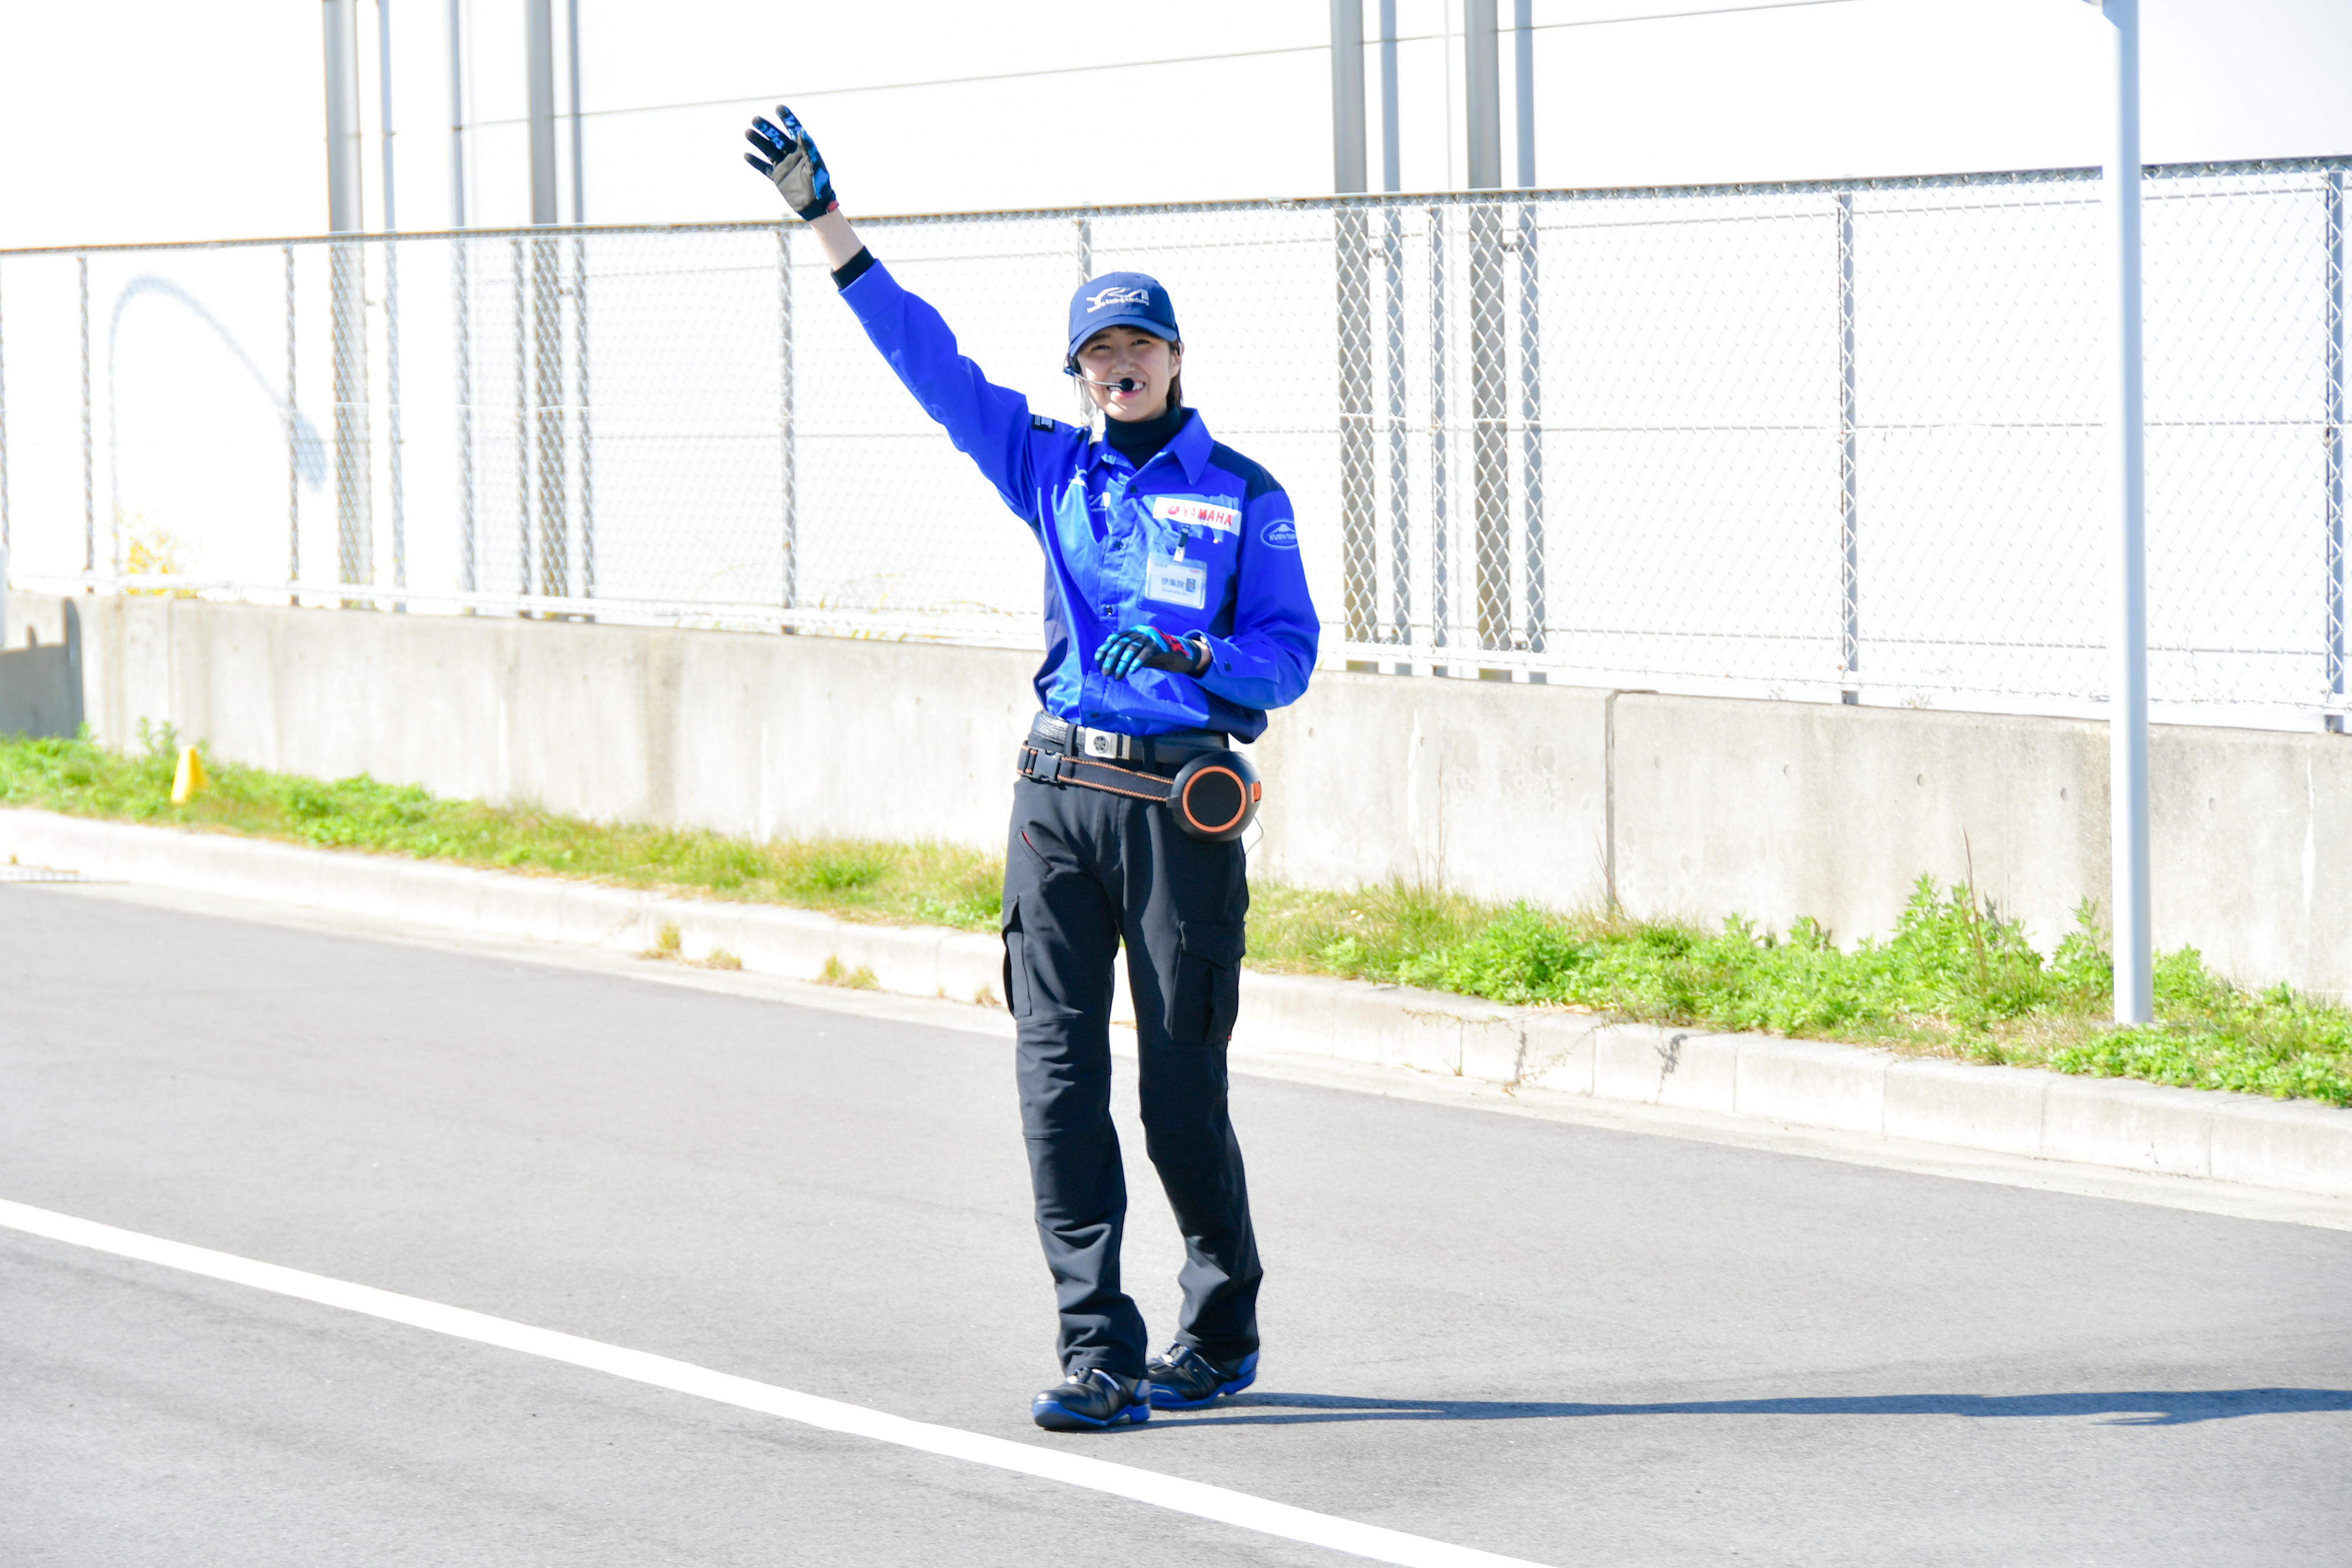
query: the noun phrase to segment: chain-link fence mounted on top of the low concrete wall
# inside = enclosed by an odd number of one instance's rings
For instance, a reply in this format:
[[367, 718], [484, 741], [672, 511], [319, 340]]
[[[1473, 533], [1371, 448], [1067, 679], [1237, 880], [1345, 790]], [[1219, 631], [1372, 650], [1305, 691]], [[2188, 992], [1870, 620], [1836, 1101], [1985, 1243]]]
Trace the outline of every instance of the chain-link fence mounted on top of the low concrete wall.
[[[2145, 190], [2150, 684], [2345, 712], [2345, 176]], [[2098, 174], [870, 219], [1084, 418], [1160, 275], [1291, 491], [1327, 658], [2093, 710]], [[797, 223], [0, 252], [19, 585], [1035, 642], [1035, 545]]]

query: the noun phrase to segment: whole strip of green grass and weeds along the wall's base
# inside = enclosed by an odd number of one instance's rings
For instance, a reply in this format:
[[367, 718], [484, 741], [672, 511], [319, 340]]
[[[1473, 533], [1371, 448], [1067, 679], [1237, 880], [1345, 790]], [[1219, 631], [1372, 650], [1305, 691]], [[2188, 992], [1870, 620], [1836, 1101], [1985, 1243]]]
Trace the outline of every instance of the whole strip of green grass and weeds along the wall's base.
[[[89, 741], [0, 741], [0, 804], [783, 903], [847, 919], [964, 931], [997, 924], [1004, 865], [981, 851], [863, 839], [750, 844], [437, 799], [367, 776], [320, 783], [209, 757], [212, 790], [174, 806], [176, 736], [141, 738], [136, 752]], [[2112, 969], [2096, 910], [2084, 905], [2079, 929], [2042, 954], [1969, 886], [1926, 877], [1893, 933], [1851, 950], [1811, 922], [1783, 933], [1740, 919], [1703, 929], [1496, 907], [1404, 884], [1324, 893], [1263, 882], [1251, 891], [1249, 945], [1256, 969], [2352, 1105], [2352, 1011], [2284, 985], [2232, 985], [2183, 947], [2157, 961], [2157, 1023], [2114, 1030], [2105, 1023]], [[675, 959], [675, 929], [647, 957]], [[703, 961], [734, 966], [722, 952]], [[828, 964], [826, 980], [875, 983], [868, 969], [840, 961]]]

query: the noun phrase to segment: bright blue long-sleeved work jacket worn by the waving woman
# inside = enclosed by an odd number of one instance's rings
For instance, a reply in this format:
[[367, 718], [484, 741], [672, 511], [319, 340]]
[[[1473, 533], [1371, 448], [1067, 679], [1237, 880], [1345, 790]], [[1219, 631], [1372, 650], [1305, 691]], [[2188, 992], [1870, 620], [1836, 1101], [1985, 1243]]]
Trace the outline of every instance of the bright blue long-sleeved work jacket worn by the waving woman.
[[[1044, 545], [1044, 663], [1037, 701], [1058, 719], [1127, 736], [1265, 731], [1296, 703], [1322, 625], [1308, 599], [1291, 498], [1275, 477], [1209, 437], [1192, 411], [1143, 468], [1089, 430], [1030, 414], [955, 350], [938, 310], [880, 263], [842, 287], [866, 336], [946, 425]], [[1136, 670], [1108, 679], [1094, 649], [1129, 625], [1209, 639], [1200, 675]]]

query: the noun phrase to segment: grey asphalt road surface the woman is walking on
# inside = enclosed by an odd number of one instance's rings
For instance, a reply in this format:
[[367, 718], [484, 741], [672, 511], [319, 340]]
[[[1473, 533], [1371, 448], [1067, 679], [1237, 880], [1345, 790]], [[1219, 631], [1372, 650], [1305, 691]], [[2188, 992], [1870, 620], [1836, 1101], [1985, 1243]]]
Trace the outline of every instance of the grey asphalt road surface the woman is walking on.
[[[1270, 1079], [1258, 1389], [1040, 1434], [1004, 1058], [0, 886], [0, 1199], [1538, 1563], [2352, 1561], [2347, 1232]], [[0, 1561], [1352, 1559], [0, 1229]]]

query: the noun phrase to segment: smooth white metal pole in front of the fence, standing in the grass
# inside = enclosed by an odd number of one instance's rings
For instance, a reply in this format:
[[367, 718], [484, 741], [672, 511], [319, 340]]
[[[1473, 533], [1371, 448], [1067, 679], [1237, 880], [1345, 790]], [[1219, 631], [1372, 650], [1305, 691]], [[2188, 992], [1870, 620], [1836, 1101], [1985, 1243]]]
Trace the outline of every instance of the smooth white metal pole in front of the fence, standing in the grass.
[[2114, 1020], [2154, 1018], [2147, 891], [2147, 430], [2140, 386], [2140, 0], [2098, 0], [2114, 61], [2107, 146], [2107, 501], [2114, 508], [2114, 658], [2107, 806], [2114, 875]]

